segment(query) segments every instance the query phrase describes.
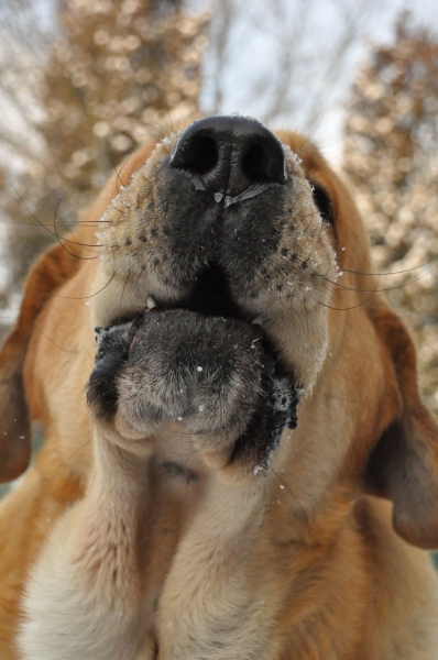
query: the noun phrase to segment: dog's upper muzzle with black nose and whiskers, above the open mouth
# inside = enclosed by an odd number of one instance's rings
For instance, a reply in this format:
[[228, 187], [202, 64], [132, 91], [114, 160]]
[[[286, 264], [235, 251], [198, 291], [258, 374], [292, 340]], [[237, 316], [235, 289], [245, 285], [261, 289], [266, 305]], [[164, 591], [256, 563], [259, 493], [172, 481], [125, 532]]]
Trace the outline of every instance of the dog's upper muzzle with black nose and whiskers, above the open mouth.
[[157, 145], [105, 216], [96, 324], [143, 316], [147, 299], [155, 312], [256, 322], [306, 388], [337, 278], [317, 204], [298, 156], [259, 122], [195, 122]]

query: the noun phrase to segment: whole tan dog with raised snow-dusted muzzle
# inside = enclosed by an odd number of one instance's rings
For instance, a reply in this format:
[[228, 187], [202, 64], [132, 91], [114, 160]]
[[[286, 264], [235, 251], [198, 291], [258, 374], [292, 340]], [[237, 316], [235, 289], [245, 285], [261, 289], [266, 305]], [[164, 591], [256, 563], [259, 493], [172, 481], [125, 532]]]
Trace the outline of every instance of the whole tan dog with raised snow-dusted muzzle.
[[145, 144], [31, 271], [0, 381], [2, 481], [45, 429], [0, 508], [3, 660], [438, 658], [438, 428], [305, 136]]

